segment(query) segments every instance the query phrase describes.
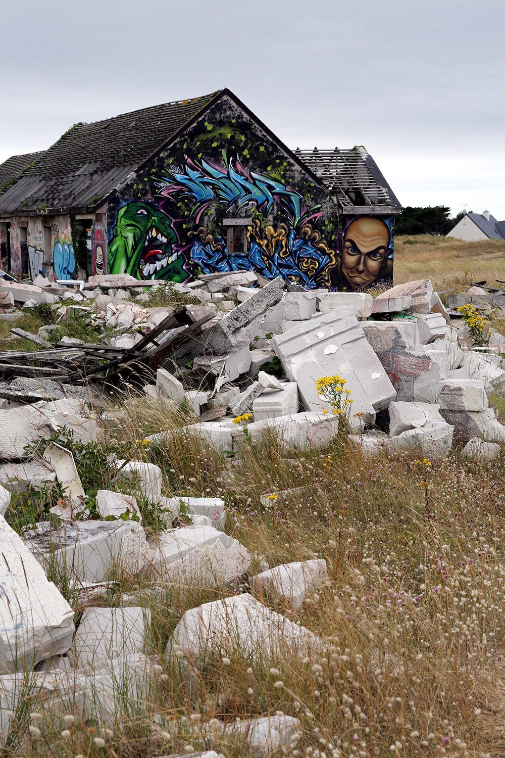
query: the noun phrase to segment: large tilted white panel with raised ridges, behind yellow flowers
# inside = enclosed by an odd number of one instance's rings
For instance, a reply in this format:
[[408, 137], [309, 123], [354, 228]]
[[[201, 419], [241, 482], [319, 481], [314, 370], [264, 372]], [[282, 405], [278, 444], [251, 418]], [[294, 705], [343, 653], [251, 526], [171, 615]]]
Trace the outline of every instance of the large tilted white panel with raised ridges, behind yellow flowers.
[[[311, 411], [328, 410], [329, 404], [316, 392], [316, 380], [338, 374], [347, 381], [354, 400], [353, 413], [373, 418], [396, 399], [389, 381], [361, 324], [351, 314], [336, 312], [301, 321], [284, 334], [273, 337], [272, 345], [286, 376], [298, 382], [301, 402]], [[352, 418], [352, 416], [351, 416]]]

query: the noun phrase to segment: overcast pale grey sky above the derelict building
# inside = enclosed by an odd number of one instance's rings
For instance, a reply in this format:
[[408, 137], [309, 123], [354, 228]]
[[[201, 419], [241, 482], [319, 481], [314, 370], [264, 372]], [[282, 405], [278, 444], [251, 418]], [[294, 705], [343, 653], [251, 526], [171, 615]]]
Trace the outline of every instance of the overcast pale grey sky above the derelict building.
[[404, 205], [505, 218], [503, 0], [0, 0], [0, 161], [227, 86], [288, 146], [363, 144]]

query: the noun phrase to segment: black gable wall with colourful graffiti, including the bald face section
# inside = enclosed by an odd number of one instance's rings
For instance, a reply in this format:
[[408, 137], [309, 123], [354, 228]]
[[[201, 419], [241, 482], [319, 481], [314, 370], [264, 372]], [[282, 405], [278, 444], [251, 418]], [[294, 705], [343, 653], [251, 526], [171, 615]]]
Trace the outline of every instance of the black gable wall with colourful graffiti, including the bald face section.
[[392, 244], [389, 219], [338, 218], [329, 194], [228, 97], [108, 205], [108, 271], [140, 280], [245, 269], [360, 290], [391, 280]]

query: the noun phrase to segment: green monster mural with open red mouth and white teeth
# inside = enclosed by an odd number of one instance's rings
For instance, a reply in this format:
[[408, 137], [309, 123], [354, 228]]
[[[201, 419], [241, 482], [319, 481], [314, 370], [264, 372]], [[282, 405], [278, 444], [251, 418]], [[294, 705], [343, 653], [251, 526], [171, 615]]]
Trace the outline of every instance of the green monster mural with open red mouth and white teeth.
[[111, 274], [131, 274], [137, 279], [184, 282], [182, 255], [173, 250], [176, 233], [170, 218], [152, 203], [130, 202], [117, 211], [114, 236], [108, 247]]

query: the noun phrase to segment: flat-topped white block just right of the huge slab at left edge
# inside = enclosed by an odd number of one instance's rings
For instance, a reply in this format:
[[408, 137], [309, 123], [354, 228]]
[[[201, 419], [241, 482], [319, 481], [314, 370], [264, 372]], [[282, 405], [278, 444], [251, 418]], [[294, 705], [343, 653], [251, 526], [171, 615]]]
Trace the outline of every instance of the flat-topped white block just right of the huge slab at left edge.
[[[60, 528], [41, 522], [26, 531], [25, 545], [42, 567], [51, 563], [59, 572], [67, 572], [70, 582], [79, 585], [83, 581], [104, 581], [118, 565], [134, 573], [145, 568], [129, 560], [132, 553], [127, 552], [125, 543], [129, 534], [139, 535], [145, 543], [145, 534], [137, 522], [73, 522]], [[147, 543], [145, 553], [148, 554]]]

